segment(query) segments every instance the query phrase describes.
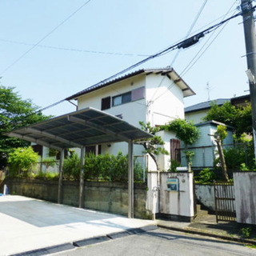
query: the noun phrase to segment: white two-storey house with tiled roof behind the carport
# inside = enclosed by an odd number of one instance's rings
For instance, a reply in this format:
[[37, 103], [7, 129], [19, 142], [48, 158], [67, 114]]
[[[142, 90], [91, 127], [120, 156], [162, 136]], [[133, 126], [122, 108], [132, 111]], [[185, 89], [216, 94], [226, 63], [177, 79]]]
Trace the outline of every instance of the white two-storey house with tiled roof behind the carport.
[[[66, 100], [76, 99], [78, 110], [91, 106], [140, 127], [140, 121], [157, 126], [174, 118], [184, 118], [183, 98], [191, 95], [194, 95], [194, 91], [186, 82], [173, 69], [165, 68], [138, 70], [110, 82], [91, 86]], [[170, 139], [174, 138], [174, 134], [162, 131], [161, 136], [166, 142], [166, 150], [170, 152]], [[125, 142], [112, 143], [93, 146], [90, 150], [98, 150], [99, 154], [118, 154], [121, 150], [126, 154], [127, 145]], [[155, 170], [154, 162], [142, 153], [143, 150], [141, 145], [135, 145], [134, 156], [141, 162], [147, 162], [149, 170]], [[162, 170], [169, 168], [170, 155], [161, 155], [158, 160]]]

